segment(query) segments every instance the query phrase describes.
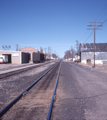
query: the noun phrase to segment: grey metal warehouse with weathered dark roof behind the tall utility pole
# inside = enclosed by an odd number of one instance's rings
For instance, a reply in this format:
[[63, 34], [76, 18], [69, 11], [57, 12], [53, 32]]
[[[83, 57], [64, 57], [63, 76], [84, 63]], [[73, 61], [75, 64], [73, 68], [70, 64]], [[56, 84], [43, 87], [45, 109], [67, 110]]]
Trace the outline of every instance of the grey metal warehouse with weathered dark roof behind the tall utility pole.
[[[82, 63], [94, 62], [94, 43], [80, 43], [80, 61]], [[107, 43], [95, 43], [95, 64], [107, 63]]]

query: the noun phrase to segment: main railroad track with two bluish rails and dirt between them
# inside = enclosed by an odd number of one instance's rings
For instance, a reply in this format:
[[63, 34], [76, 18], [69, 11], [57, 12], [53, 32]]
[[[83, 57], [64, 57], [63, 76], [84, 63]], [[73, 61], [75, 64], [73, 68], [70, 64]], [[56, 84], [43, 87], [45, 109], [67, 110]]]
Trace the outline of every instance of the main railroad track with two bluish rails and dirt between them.
[[[0, 118], [2, 119], [3, 116], [5, 116], [5, 114], [8, 114], [8, 111], [12, 108], [15, 108], [14, 106], [16, 105], [16, 103], [20, 100], [20, 101], [23, 101], [24, 103], [27, 102], [28, 98], [27, 99], [24, 99], [25, 97], [29, 96], [30, 95], [30, 92], [29, 94], [28, 91], [32, 90], [34, 88], [34, 86], [38, 85], [36, 87], [36, 94], [38, 93], [38, 95], [40, 96], [43, 96], [43, 93], [46, 95], [46, 92], [49, 92], [49, 98], [52, 97], [52, 100], [50, 102], [50, 107], [49, 108], [49, 111], [47, 113], [47, 118], [46, 120], [50, 120], [51, 118], [51, 112], [52, 112], [52, 106], [53, 106], [53, 102], [54, 102], [54, 95], [55, 95], [55, 92], [56, 92], [56, 88], [57, 88], [57, 84], [58, 84], [58, 79], [59, 79], [59, 75], [60, 75], [60, 70], [61, 70], [61, 63], [58, 62], [56, 63], [54, 66], [52, 66], [49, 70], [47, 70], [42, 76], [40, 76], [35, 82], [33, 82], [28, 88], [26, 88], [22, 93], [20, 93], [14, 100], [12, 100], [8, 105], [6, 105], [1, 111], [0, 111]], [[58, 75], [57, 75], [57, 73]], [[55, 77], [56, 76], [56, 77]], [[56, 80], [55, 80], [56, 79]], [[55, 86], [55, 87], [54, 87]], [[32, 89], [31, 89], [32, 88]], [[49, 90], [47, 90], [49, 88]], [[54, 89], [53, 89], [54, 88]], [[40, 91], [40, 92], [39, 92]], [[41, 93], [41, 91], [43, 93]], [[51, 91], [51, 92], [50, 92]], [[35, 92], [35, 89], [33, 90], [33, 92]], [[33, 92], [31, 91], [31, 94], [33, 94]], [[51, 93], [51, 94], [50, 94]], [[53, 95], [52, 95], [53, 93]], [[27, 95], [26, 95], [27, 94]], [[26, 96], [25, 96], [26, 95]], [[37, 98], [35, 98], [37, 100]], [[47, 100], [48, 98], [46, 98]], [[32, 99], [30, 99], [32, 100]], [[43, 99], [45, 101], [45, 99]], [[19, 101], [19, 103], [20, 103]], [[49, 99], [50, 101], [50, 99]], [[22, 103], [23, 103], [22, 102]], [[46, 104], [46, 103], [45, 103]], [[14, 105], [14, 106], [13, 106]], [[21, 104], [20, 104], [21, 105]], [[35, 105], [35, 104], [34, 104]], [[38, 104], [36, 104], [37, 106]], [[12, 107], [13, 106], [13, 107]], [[17, 105], [16, 105], [17, 106]], [[21, 105], [22, 106], [22, 105]], [[31, 105], [30, 105], [31, 106]], [[49, 105], [48, 105], [49, 106]], [[19, 107], [19, 105], [17, 106]], [[16, 110], [18, 108], [15, 108]], [[14, 111], [14, 110], [13, 110]], [[10, 114], [10, 113], [9, 113]], [[13, 113], [14, 114], [14, 113]], [[8, 115], [7, 115], [8, 116]]]

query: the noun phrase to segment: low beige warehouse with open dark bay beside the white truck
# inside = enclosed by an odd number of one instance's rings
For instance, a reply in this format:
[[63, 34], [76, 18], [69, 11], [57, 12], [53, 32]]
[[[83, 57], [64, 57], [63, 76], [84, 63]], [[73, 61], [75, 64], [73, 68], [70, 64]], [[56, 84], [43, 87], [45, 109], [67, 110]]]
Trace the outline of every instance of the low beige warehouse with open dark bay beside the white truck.
[[22, 64], [30, 61], [30, 54], [21, 51], [0, 50], [0, 55], [8, 56], [8, 63]]

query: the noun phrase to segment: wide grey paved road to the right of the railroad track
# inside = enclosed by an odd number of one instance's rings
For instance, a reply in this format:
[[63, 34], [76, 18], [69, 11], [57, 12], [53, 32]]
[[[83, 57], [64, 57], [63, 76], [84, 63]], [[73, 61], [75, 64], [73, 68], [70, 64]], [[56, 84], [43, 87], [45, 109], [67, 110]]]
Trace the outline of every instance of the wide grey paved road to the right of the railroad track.
[[107, 74], [63, 62], [52, 120], [107, 120]]

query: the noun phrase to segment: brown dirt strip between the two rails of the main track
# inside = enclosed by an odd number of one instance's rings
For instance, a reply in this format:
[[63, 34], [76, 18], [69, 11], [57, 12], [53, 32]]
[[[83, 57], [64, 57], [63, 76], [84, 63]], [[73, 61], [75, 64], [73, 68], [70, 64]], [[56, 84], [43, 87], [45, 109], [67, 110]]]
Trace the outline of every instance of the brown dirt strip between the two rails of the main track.
[[[3, 120], [45, 120], [48, 114], [59, 66], [52, 69], [4, 116]], [[42, 69], [42, 67], [40, 68]], [[33, 72], [35, 72], [33, 70]], [[29, 75], [30, 76], [30, 75]], [[35, 75], [33, 75], [35, 77]], [[26, 80], [29, 79], [28, 76]]]

